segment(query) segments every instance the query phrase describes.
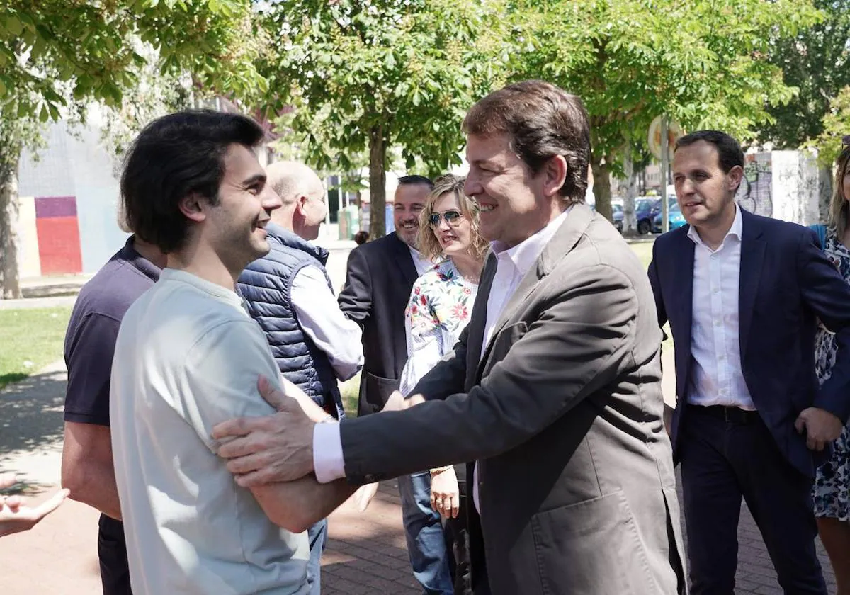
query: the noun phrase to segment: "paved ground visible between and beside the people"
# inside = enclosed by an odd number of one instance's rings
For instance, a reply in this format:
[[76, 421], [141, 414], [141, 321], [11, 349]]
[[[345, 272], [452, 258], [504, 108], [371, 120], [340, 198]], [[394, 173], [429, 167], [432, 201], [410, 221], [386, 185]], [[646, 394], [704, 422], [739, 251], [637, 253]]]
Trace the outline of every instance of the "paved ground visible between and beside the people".
[[[0, 392], [0, 473], [21, 473], [34, 502], [49, 496], [59, 479], [64, 392], [61, 365]], [[0, 595], [98, 593], [97, 516], [92, 508], [68, 501], [34, 530], [0, 539]], [[326, 595], [420, 592], [409, 570], [394, 482], [382, 484], [365, 513], [351, 502], [340, 507], [331, 515], [330, 536], [323, 560]], [[745, 507], [739, 540], [736, 592], [781, 593]], [[835, 592], [829, 562], [819, 548], [830, 592]]]

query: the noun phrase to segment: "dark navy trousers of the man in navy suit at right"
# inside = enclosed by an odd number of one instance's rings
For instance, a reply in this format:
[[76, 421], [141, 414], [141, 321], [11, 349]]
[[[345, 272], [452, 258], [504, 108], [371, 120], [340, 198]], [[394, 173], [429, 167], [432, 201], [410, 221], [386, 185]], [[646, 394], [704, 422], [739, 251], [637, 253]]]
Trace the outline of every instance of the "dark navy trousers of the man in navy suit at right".
[[826, 595], [813, 479], [791, 466], [758, 416], [728, 422], [686, 406], [679, 448], [692, 595], [734, 595], [742, 497], [785, 593]]

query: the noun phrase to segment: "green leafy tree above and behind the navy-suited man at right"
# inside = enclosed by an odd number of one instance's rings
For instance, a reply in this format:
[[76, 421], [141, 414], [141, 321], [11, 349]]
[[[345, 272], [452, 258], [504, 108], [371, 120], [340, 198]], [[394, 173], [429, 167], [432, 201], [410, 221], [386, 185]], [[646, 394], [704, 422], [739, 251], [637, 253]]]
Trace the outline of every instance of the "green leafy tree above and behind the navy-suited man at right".
[[512, 77], [584, 100], [597, 210], [610, 218], [609, 174], [622, 174], [630, 130], [667, 113], [751, 138], [794, 92], [768, 61], [771, 44], [816, 18], [809, 0], [517, 0]]

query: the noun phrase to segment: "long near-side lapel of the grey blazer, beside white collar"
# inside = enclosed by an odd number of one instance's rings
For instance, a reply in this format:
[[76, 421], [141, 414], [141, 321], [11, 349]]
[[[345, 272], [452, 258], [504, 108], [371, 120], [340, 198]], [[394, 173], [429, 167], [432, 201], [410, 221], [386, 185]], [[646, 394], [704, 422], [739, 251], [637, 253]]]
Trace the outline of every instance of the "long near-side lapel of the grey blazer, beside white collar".
[[[484, 361], [489, 357], [493, 339], [507, 325], [507, 322], [513, 318], [513, 315], [517, 313], [517, 310], [519, 310], [526, 298], [534, 292], [538, 282], [551, 273], [560, 259], [564, 258], [575, 247], [593, 217], [594, 213], [585, 204], [577, 204], [572, 207], [564, 219], [564, 223], [555, 232], [552, 240], [543, 247], [543, 251], [540, 257], [537, 258], [535, 265], [525, 273], [522, 280], [519, 281], [519, 286], [517, 286], [511, 297], [508, 298], [505, 307], [501, 310], [501, 314], [499, 314], [499, 318], [496, 320], [496, 325], [493, 326], [493, 332], [490, 334], [490, 341], [487, 343], [484, 357], [481, 358], [479, 374], [483, 370]], [[493, 268], [493, 274], [496, 275], [496, 267]]]

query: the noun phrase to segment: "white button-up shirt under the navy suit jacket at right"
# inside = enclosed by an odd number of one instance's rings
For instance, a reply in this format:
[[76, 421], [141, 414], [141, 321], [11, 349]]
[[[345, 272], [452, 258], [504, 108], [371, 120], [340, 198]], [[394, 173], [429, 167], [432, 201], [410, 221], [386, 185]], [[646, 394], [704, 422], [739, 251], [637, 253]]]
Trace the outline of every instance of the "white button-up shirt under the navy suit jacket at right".
[[755, 411], [741, 369], [740, 352], [740, 207], [723, 243], [712, 251], [693, 226], [694, 297], [691, 323], [691, 367], [688, 402], [692, 405], [726, 405]]

